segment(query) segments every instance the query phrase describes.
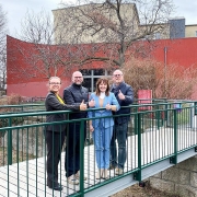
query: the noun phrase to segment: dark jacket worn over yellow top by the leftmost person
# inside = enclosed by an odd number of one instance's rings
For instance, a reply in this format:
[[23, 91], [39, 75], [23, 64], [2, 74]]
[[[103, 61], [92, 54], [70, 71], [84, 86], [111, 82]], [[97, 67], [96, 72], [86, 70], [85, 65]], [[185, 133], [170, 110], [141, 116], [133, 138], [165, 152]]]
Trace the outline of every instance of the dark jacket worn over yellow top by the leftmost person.
[[[56, 97], [56, 94], [53, 92], [49, 92], [45, 100], [45, 107], [46, 112], [54, 112], [54, 111], [79, 111], [80, 104], [77, 105], [63, 105], [59, 103], [59, 100]], [[61, 121], [66, 119], [65, 114], [50, 114], [46, 115], [46, 123], [51, 121]], [[46, 130], [54, 130], [54, 131], [65, 131], [66, 124], [58, 124], [58, 125], [48, 125], [46, 126]]]

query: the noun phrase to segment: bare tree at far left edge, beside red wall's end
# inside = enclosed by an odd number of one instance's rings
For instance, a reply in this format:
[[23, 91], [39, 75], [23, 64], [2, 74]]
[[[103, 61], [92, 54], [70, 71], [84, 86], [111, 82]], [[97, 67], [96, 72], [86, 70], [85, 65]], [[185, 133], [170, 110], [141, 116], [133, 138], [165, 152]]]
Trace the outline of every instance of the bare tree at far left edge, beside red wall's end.
[[5, 89], [7, 83], [7, 54], [5, 54], [5, 40], [7, 40], [7, 13], [3, 11], [0, 4], [0, 89]]

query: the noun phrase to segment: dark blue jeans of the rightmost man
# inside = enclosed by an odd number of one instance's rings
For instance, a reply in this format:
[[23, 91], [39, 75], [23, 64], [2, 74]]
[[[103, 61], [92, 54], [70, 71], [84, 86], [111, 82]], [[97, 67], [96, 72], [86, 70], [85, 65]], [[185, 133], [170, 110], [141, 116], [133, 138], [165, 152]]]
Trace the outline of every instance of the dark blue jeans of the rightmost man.
[[[127, 140], [128, 121], [124, 124], [115, 124], [114, 132], [111, 140], [111, 165], [118, 169], [124, 169], [126, 162], [126, 140]], [[118, 159], [116, 139], [118, 143]]]

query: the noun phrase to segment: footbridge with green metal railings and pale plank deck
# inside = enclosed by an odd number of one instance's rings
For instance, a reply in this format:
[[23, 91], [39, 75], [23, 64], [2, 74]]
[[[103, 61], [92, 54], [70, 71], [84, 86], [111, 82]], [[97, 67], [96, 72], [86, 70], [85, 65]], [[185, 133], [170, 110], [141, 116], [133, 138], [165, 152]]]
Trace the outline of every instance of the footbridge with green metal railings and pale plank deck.
[[[71, 185], [66, 178], [63, 149], [58, 170], [59, 183], [63, 186], [61, 192], [53, 190], [46, 184], [44, 130], [48, 123], [45, 123], [45, 116], [70, 112], [47, 113], [35, 112], [34, 108], [0, 115], [0, 196], [107, 197], [139, 183], [196, 155], [196, 104], [190, 101], [167, 101], [130, 105], [124, 173], [116, 175], [115, 170], [111, 170], [107, 179], [95, 178], [95, 150], [89, 130], [85, 142], [82, 140], [82, 130], [89, 119], [72, 120], [81, 125], [80, 182], [79, 185]], [[69, 123], [71, 120], [63, 121], [67, 125]]]

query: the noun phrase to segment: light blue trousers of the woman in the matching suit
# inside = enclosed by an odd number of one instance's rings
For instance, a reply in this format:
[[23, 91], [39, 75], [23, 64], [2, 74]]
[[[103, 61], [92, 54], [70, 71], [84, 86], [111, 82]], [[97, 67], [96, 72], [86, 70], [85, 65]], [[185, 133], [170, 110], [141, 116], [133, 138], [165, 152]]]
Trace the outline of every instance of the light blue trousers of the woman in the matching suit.
[[94, 132], [92, 134], [95, 146], [96, 164], [99, 169], [109, 167], [109, 146], [112, 135], [113, 127], [104, 128], [102, 125], [95, 128]]

